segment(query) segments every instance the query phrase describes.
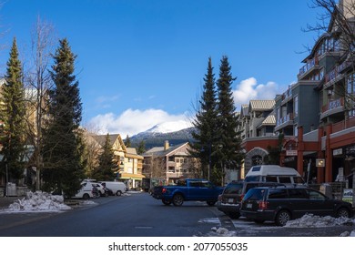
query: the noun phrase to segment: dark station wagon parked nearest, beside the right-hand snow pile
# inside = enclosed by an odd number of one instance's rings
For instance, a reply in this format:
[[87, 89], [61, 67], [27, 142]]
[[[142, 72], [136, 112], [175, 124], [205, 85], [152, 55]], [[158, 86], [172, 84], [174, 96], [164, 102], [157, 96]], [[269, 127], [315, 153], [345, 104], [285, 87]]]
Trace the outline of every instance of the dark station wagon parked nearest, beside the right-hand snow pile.
[[305, 187], [249, 189], [240, 208], [240, 214], [247, 219], [259, 223], [271, 220], [279, 226], [307, 213], [350, 218], [353, 209], [348, 202], [330, 199], [318, 190]]

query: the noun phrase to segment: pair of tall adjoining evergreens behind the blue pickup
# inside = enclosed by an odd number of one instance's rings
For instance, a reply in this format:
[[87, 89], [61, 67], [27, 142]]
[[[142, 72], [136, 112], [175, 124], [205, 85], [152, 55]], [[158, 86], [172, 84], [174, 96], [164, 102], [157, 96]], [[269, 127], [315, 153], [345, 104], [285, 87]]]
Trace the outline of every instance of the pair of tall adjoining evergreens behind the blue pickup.
[[203, 178], [221, 185], [226, 169], [238, 169], [244, 158], [232, 93], [234, 80], [228, 56], [220, 60], [217, 80], [209, 57], [202, 96], [193, 120], [196, 131], [192, 134], [195, 142], [191, 144], [190, 153], [199, 159]]

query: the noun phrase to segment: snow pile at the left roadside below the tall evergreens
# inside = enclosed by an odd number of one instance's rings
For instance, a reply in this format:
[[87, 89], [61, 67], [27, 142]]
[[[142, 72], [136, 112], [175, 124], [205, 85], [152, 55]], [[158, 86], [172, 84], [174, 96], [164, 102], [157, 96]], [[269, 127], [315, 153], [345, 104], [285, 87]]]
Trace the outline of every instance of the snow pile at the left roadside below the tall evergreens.
[[27, 192], [24, 199], [18, 199], [9, 205], [6, 211], [58, 211], [71, 209], [64, 203], [63, 196], [51, 195], [42, 191]]

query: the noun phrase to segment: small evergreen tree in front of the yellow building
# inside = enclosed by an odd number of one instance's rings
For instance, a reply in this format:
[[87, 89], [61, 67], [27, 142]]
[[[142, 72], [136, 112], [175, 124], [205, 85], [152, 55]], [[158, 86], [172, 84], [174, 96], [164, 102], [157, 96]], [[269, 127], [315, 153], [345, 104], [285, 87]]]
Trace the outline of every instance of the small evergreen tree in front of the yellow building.
[[103, 152], [98, 157], [98, 167], [93, 172], [93, 179], [114, 180], [118, 169], [115, 154], [111, 146], [109, 135], [107, 134]]

